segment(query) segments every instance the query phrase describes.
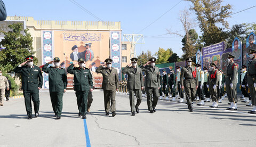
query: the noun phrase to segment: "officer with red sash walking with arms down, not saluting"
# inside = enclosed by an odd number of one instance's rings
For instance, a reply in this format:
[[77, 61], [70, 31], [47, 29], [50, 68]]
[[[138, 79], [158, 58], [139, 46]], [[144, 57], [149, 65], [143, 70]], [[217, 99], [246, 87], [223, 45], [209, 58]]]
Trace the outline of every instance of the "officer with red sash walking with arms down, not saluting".
[[196, 68], [192, 66], [191, 58], [187, 58], [186, 62], [187, 65], [181, 69], [180, 86], [182, 90], [185, 89], [188, 109], [190, 112], [193, 112], [192, 102], [196, 97], [196, 89], [198, 88], [198, 77], [196, 74]]

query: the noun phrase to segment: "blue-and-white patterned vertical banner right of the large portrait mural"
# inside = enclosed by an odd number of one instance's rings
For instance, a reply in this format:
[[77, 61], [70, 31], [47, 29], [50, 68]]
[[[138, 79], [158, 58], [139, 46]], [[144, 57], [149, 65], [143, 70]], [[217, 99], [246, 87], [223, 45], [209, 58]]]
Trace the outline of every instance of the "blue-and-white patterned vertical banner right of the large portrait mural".
[[110, 58], [112, 67], [117, 69], [119, 80], [121, 79], [121, 32], [110, 31]]

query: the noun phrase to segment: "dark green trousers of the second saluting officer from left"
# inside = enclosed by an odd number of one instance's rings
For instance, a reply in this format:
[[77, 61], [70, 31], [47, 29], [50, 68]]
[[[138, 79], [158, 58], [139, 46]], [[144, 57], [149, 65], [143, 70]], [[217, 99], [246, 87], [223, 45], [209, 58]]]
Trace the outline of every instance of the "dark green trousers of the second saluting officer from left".
[[52, 109], [57, 116], [61, 116], [62, 111], [62, 97], [64, 92], [50, 92]]

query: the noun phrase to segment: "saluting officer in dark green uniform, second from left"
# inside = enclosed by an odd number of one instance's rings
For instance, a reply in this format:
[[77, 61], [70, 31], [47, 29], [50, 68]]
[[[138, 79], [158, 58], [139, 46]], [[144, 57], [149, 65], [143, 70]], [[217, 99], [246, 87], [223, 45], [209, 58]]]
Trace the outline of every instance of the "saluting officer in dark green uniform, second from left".
[[[54, 67], [49, 67], [49, 64], [54, 63]], [[60, 59], [55, 57], [53, 61], [44, 64], [42, 70], [49, 74], [49, 91], [52, 102], [52, 109], [57, 119], [61, 117], [62, 111], [62, 97], [67, 88], [67, 74], [64, 68], [60, 67]]]

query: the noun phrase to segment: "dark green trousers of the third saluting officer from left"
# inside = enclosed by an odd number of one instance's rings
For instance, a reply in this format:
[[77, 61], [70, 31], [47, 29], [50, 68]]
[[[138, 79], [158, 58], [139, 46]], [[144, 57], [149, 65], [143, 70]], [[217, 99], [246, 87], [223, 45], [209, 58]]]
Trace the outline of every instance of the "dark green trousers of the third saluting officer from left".
[[85, 91], [76, 91], [76, 102], [79, 113], [86, 115], [87, 111], [87, 97], [89, 93], [89, 88]]

